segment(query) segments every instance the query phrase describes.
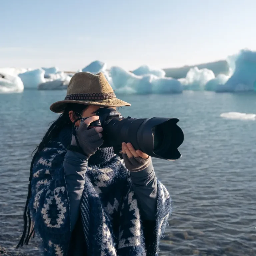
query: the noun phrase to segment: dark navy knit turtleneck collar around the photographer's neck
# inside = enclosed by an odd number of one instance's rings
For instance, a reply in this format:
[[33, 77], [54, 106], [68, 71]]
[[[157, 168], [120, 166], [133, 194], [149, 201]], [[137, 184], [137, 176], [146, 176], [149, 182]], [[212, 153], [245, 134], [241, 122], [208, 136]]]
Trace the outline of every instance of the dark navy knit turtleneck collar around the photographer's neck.
[[[71, 126], [64, 127], [58, 136], [58, 141], [67, 148], [71, 143], [72, 128]], [[113, 147], [99, 148], [88, 160], [88, 166], [99, 165], [109, 161], [114, 156]]]

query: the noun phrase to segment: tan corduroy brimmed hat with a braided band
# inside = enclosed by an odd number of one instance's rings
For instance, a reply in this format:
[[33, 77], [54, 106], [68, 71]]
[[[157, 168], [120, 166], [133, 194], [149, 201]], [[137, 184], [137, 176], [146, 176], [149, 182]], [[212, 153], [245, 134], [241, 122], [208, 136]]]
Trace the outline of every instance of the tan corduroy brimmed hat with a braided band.
[[57, 101], [50, 106], [50, 110], [61, 113], [67, 103], [84, 105], [100, 105], [103, 107], [131, 106], [119, 100], [103, 73], [93, 75], [88, 72], [79, 72], [71, 78], [64, 100]]

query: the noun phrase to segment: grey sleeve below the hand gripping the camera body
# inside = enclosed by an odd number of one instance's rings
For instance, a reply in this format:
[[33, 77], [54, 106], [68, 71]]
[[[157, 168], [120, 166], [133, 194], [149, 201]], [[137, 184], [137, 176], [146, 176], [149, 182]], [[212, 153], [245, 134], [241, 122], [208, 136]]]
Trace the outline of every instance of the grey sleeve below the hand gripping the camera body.
[[71, 232], [79, 216], [80, 200], [85, 184], [87, 163], [88, 157], [70, 150], [67, 151], [63, 161], [69, 197]]

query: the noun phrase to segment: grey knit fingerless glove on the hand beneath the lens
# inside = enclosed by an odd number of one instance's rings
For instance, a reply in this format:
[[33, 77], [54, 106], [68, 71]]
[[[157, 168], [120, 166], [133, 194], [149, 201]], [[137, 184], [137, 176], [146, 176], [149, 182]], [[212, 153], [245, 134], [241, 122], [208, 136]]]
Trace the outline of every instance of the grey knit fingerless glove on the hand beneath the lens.
[[130, 172], [138, 172], [141, 170], [146, 169], [151, 162], [151, 157], [149, 156], [147, 159], [144, 159], [142, 157], [131, 157], [129, 158], [127, 156], [127, 154], [122, 153], [123, 159], [124, 159], [124, 163], [126, 168], [130, 171]]

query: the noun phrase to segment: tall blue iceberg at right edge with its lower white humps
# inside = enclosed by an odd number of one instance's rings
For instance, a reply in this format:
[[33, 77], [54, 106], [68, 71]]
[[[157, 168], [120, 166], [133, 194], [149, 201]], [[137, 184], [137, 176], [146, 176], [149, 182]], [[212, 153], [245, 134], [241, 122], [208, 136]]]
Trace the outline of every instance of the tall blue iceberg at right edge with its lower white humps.
[[227, 57], [229, 74], [218, 74], [212, 70], [191, 68], [186, 78], [178, 79], [184, 90], [206, 90], [215, 92], [256, 91], [256, 52], [242, 50]]

